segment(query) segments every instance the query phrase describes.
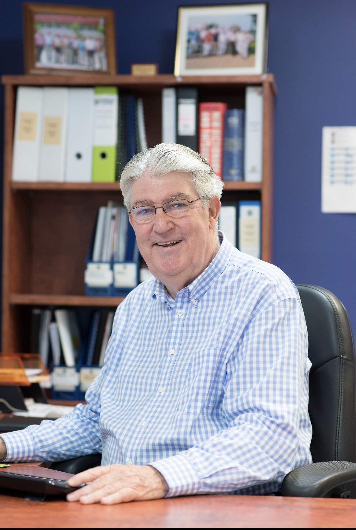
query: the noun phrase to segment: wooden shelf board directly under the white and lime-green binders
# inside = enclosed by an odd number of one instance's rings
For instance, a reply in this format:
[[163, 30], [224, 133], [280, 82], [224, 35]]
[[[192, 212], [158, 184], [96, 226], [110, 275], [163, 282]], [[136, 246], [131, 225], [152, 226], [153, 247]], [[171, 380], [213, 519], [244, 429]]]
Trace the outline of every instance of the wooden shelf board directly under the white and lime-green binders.
[[[224, 190], [261, 190], [261, 182], [224, 182]], [[11, 182], [12, 190], [120, 191], [119, 182]]]

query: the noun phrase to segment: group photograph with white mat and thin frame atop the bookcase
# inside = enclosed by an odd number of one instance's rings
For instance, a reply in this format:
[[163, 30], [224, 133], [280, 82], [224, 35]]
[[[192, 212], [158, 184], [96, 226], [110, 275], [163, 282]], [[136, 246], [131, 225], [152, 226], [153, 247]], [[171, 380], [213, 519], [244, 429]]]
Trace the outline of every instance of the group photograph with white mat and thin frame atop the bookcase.
[[175, 76], [263, 74], [267, 4], [179, 7]]

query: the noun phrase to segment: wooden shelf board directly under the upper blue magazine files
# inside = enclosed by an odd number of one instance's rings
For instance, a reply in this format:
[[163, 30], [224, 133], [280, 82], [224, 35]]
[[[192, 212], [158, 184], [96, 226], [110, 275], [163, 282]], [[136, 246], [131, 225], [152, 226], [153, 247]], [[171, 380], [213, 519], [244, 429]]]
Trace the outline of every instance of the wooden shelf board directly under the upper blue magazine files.
[[58, 305], [76, 307], [117, 307], [124, 296], [75, 296], [75, 295], [36, 295], [11, 294], [12, 305]]

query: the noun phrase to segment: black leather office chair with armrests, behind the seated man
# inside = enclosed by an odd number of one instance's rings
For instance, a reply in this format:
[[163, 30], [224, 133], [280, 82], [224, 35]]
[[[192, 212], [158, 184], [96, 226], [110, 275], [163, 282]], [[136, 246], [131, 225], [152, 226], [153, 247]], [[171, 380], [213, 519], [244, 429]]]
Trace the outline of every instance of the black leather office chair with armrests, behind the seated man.
[[[356, 498], [356, 370], [349, 316], [322, 287], [297, 284], [309, 336], [309, 414], [313, 464], [285, 476], [281, 493], [293, 497]], [[101, 455], [52, 464], [79, 473], [100, 465]], [[348, 483], [347, 490], [344, 484]], [[351, 484], [350, 484], [351, 483]]]

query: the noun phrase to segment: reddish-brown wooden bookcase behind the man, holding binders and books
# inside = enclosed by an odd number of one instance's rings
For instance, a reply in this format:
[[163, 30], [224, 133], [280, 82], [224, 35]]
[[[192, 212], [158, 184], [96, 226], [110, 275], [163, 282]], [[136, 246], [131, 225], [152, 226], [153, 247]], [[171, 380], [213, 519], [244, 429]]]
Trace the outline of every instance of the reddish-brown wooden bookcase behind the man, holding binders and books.
[[273, 106], [272, 74], [259, 76], [152, 77], [116, 75], [3, 76], [5, 85], [2, 351], [26, 352], [32, 307], [116, 307], [123, 297], [84, 296], [85, 257], [100, 206], [122, 201], [119, 182], [13, 182], [16, 89], [30, 86], [116, 85], [143, 99], [149, 147], [161, 142], [163, 87], [194, 85], [200, 101], [245, 107], [245, 87], [262, 85], [263, 181], [225, 182], [222, 200], [262, 201], [261, 255], [272, 262]]

